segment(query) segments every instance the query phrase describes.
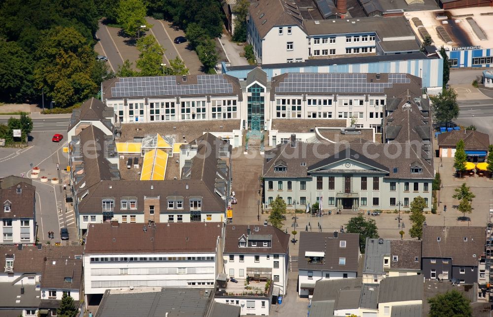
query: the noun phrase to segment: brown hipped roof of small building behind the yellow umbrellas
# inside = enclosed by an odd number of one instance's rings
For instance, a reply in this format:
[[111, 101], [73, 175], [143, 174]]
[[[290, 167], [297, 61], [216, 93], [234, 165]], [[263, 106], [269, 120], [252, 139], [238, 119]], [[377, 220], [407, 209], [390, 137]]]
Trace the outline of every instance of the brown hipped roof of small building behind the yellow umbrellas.
[[474, 130], [454, 130], [438, 135], [438, 146], [456, 147], [457, 142], [464, 140], [465, 150], [488, 151], [490, 136]]

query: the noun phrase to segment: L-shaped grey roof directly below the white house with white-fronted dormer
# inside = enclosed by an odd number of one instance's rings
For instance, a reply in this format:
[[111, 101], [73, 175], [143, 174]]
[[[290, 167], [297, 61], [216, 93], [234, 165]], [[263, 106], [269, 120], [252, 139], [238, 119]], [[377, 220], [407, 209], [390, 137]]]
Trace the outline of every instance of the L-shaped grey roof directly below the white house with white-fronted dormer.
[[[315, 283], [312, 302], [335, 301], [340, 290], [361, 290], [363, 279], [320, 280]], [[358, 296], [359, 298], [359, 296]]]

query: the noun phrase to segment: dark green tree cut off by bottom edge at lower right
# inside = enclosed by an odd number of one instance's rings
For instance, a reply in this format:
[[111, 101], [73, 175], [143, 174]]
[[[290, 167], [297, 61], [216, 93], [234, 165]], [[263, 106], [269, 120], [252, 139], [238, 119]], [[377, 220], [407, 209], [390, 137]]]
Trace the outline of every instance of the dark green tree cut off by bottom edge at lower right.
[[429, 317], [472, 317], [471, 301], [453, 289], [428, 299]]

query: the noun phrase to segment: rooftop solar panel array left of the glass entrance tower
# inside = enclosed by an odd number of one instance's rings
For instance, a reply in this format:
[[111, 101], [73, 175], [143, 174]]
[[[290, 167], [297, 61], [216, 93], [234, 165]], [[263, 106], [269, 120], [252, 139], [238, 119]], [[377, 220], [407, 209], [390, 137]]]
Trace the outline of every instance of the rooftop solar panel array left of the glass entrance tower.
[[233, 85], [223, 75], [197, 75], [197, 84], [177, 84], [176, 76], [122, 77], [111, 97], [231, 94]]

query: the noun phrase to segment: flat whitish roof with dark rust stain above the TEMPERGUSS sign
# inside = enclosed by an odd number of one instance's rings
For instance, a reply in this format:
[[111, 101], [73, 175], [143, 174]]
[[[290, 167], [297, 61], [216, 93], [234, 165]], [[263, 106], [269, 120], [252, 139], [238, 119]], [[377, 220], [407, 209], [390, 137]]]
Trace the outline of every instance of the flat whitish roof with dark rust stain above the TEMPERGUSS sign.
[[[481, 48], [493, 48], [493, 7], [463, 8], [451, 10], [431, 10], [431, 11], [412, 11], [404, 15], [416, 33], [418, 38], [423, 41], [423, 37], [418, 31], [425, 28], [428, 31], [433, 44], [440, 48], [441, 46], [452, 50], [453, 47], [481, 46]], [[437, 16], [449, 16], [451, 19], [438, 19]], [[423, 27], [416, 27], [412, 18], [418, 18], [423, 23]], [[472, 18], [477, 26], [484, 32], [487, 39], [481, 40], [467, 18]], [[447, 23], [442, 23], [446, 21]], [[473, 23], [474, 24], [474, 23]], [[446, 43], [438, 35], [437, 27], [443, 27], [451, 37], [452, 42]]]

